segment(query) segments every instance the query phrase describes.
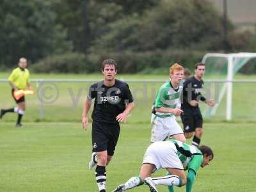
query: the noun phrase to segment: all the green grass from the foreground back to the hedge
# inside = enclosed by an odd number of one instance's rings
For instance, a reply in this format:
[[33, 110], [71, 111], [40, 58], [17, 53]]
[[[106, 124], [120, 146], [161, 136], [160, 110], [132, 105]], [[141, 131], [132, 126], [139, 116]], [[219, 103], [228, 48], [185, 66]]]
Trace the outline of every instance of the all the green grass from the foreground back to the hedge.
[[[0, 79], [6, 77], [7, 73], [0, 73]], [[100, 74], [32, 74], [32, 77], [102, 79]], [[168, 76], [120, 75], [118, 78], [168, 79]], [[256, 76], [239, 75], [236, 79], [256, 79]], [[87, 168], [92, 150], [91, 133], [90, 130], [84, 133], [81, 128], [83, 100], [89, 84], [56, 83], [59, 97], [51, 104], [44, 104], [43, 111], [37, 93], [26, 97], [27, 110], [21, 129], [13, 126], [17, 115], [4, 115], [0, 122], [0, 191], [97, 191], [94, 172]], [[108, 166], [108, 191], [138, 175], [149, 145], [150, 108], [161, 84], [129, 83], [136, 99], [135, 107], [127, 124], [122, 125], [115, 157]], [[210, 145], [215, 157], [208, 168], [200, 170], [194, 191], [255, 191], [254, 86], [255, 83], [234, 83], [232, 122], [225, 122], [225, 100], [216, 116], [205, 119], [202, 144]], [[33, 83], [33, 87], [37, 92], [38, 84]], [[0, 108], [15, 106], [8, 83], [0, 83], [0, 90]], [[54, 95], [54, 91], [47, 94]], [[205, 104], [200, 107], [204, 111]], [[163, 174], [163, 170], [156, 173]], [[141, 186], [131, 191], [148, 189]], [[160, 186], [159, 191], [166, 188]]]

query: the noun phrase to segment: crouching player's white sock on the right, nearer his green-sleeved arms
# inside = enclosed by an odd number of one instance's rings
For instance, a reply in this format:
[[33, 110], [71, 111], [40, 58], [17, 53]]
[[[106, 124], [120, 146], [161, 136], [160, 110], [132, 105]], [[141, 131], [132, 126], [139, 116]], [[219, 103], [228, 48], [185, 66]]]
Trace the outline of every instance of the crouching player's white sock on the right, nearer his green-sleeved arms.
[[164, 177], [154, 177], [152, 178], [155, 184], [165, 185], [165, 186], [181, 186], [182, 180], [177, 175], [167, 175]]

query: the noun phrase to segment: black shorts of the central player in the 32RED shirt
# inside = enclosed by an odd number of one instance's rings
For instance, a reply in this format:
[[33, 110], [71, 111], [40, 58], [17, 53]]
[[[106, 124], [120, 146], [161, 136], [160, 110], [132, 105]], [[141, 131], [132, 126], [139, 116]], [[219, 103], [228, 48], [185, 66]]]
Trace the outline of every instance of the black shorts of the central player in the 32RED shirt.
[[104, 122], [92, 122], [92, 151], [108, 151], [108, 156], [113, 156], [119, 138], [120, 125]]

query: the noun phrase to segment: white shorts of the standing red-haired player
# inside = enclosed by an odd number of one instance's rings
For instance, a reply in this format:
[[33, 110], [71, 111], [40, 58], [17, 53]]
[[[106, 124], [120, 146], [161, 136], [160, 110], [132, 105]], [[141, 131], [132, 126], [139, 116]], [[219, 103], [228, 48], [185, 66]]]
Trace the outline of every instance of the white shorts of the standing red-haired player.
[[152, 130], [151, 130], [151, 142], [163, 141], [169, 136], [175, 134], [183, 134], [183, 130], [176, 121], [175, 116], [168, 116], [165, 118], [154, 116], [151, 118]]

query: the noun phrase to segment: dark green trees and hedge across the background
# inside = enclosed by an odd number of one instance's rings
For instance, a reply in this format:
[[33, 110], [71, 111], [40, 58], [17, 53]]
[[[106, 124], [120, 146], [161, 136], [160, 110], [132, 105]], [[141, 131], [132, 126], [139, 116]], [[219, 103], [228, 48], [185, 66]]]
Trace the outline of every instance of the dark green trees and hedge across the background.
[[[35, 72], [96, 72], [108, 57], [122, 73], [191, 68], [224, 51], [222, 25], [206, 0], [2, 0], [0, 67], [25, 56]], [[227, 29], [227, 52], [256, 51], [255, 31]]]

